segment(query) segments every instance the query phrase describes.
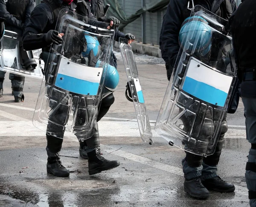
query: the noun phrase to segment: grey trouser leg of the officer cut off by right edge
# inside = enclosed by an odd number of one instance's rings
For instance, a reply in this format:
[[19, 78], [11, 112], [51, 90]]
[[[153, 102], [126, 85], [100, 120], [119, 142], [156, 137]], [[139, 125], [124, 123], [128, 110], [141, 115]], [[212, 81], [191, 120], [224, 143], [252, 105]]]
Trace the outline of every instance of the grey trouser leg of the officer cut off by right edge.
[[246, 136], [251, 143], [245, 180], [249, 190], [250, 207], [256, 207], [256, 99], [242, 97]]

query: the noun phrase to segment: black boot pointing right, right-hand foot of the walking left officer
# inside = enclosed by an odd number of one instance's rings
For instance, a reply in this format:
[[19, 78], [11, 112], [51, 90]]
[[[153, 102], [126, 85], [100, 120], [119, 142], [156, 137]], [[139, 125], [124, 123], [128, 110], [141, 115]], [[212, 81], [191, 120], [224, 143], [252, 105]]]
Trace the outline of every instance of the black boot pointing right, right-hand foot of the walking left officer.
[[96, 173], [100, 173], [104, 170], [110, 170], [119, 166], [119, 161], [107, 160], [100, 155], [99, 150], [93, 150], [88, 155], [88, 167], [89, 167], [89, 175], [93, 175]]

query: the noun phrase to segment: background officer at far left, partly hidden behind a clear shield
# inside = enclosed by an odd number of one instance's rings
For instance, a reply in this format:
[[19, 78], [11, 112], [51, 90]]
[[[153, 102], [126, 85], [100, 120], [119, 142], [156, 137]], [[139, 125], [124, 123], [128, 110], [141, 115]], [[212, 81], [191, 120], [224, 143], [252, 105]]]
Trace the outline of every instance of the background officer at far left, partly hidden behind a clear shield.
[[[15, 31], [21, 39], [23, 30], [29, 23], [29, 17], [34, 7], [33, 0], [0, 0], [0, 17], [6, 19], [6, 30]], [[25, 59], [28, 58], [21, 44], [18, 49], [20, 50], [21, 56], [24, 56]], [[5, 73], [4, 71], [0, 71], [0, 97], [3, 96]], [[14, 95], [15, 102], [21, 102], [24, 100], [23, 86], [25, 77], [17, 74], [9, 74], [9, 79], [12, 82], [12, 94]]]

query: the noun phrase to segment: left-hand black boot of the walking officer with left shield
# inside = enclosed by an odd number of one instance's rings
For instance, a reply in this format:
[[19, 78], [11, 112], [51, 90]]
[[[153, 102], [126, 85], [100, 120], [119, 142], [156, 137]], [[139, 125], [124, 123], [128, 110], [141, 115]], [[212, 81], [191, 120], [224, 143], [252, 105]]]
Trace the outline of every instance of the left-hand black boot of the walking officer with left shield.
[[69, 171], [61, 164], [59, 153], [51, 153], [47, 150], [47, 173], [57, 177], [68, 177]]

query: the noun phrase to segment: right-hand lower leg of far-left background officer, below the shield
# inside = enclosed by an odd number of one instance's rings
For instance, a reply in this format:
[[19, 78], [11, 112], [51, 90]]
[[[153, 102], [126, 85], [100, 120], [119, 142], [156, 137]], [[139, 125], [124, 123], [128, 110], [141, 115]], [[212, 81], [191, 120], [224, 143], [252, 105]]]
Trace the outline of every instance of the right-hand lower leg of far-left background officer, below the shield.
[[17, 74], [10, 74], [9, 79], [12, 82], [12, 90], [15, 102], [21, 102], [24, 100], [23, 86], [25, 77]]

